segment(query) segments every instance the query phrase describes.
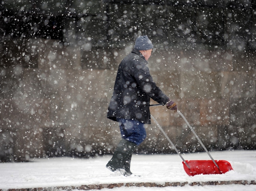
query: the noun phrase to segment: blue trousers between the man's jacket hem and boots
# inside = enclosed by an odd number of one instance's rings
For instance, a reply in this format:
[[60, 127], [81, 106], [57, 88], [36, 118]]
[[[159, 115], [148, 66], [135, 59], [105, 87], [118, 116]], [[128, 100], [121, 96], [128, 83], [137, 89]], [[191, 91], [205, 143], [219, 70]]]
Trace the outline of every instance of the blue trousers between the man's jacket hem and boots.
[[127, 120], [118, 118], [119, 128], [123, 139], [133, 142], [137, 145], [142, 143], [146, 138], [144, 123], [137, 120]]

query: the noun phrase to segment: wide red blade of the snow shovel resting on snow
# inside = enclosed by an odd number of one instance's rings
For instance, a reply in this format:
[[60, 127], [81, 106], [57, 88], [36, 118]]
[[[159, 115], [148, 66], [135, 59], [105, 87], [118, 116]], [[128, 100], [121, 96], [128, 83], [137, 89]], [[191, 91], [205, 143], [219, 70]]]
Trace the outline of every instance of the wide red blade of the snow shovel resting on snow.
[[190, 169], [185, 162], [183, 163], [184, 170], [189, 176], [197, 174], [223, 174], [233, 170], [231, 164], [226, 160], [215, 160], [220, 169], [214, 164], [212, 160], [186, 160]]

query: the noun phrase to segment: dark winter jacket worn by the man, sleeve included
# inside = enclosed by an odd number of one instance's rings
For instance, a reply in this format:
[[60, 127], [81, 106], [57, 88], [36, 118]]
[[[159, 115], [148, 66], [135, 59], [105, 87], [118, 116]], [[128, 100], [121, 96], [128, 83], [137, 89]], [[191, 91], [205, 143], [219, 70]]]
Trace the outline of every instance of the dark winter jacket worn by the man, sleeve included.
[[149, 73], [148, 62], [133, 49], [120, 63], [107, 118], [134, 119], [150, 124], [150, 98], [165, 105], [168, 97], [156, 86]]

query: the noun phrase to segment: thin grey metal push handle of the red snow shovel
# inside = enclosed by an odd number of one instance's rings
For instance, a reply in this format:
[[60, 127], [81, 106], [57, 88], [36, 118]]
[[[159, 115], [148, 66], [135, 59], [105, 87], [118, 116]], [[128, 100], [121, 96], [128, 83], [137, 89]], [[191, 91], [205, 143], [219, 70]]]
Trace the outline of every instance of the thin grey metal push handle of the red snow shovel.
[[[154, 104], [154, 105], [150, 105], [150, 106], [162, 106], [162, 104]], [[197, 136], [196, 132], [193, 130], [193, 128], [189, 125], [188, 121], [186, 120], [186, 118], [184, 117], [184, 115], [182, 115], [182, 113], [177, 110], [177, 113], [184, 119], [184, 121], [186, 122], [186, 124], [188, 125], [189, 129], [192, 131], [192, 133], [195, 135], [196, 139], [199, 141], [199, 143], [203, 146], [204, 150], [207, 152], [207, 154], [210, 156], [210, 158], [212, 159], [213, 163], [215, 164], [215, 166], [220, 170], [220, 167], [218, 166], [218, 164], [216, 163], [216, 161], [212, 158], [212, 156], [210, 155], [209, 151], [207, 150], [207, 148], [204, 146], [204, 144], [202, 143], [202, 141], [199, 139], [199, 137]], [[155, 120], [155, 118], [151, 115], [152, 119], [156, 122], [157, 126], [159, 127], [159, 129], [162, 131], [162, 133], [165, 135], [166, 139], [171, 143], [171, 145], [174, 147], [174, 149], [176, 150], [176, 152], [180, 155], [179, 151], [177, 150], [177, 148], [174, 146], [174, 144], [171, 142], [171, 140], [167, 137], [167, 135], [164, 133], [163, 129], [161, 128], [161, 126], [157, 123], [157, 121]], [[188, 164], [186, 163], [186, 161], [183, 159], [183, 157], [180, 155], [180, 157], [182, 158], [182, 160], [185, 162], [186, 166], [189, 168]], [[190, 169], [190, 168], [189, 168]]]

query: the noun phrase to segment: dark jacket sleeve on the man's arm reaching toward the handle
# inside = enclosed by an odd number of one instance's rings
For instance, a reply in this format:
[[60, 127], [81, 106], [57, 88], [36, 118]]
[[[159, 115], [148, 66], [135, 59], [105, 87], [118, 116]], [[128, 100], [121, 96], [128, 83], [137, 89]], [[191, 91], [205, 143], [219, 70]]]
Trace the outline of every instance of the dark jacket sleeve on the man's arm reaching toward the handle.
[[135, 61], [134, 77], [143, 92], [151, 97], [154, 101], [162, 105], [165, 105], [168, 102], [169, 97], [166, 96], [153, 81], [149, 68], [145, 62], [139, 60]]

